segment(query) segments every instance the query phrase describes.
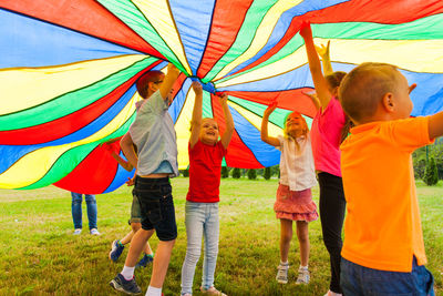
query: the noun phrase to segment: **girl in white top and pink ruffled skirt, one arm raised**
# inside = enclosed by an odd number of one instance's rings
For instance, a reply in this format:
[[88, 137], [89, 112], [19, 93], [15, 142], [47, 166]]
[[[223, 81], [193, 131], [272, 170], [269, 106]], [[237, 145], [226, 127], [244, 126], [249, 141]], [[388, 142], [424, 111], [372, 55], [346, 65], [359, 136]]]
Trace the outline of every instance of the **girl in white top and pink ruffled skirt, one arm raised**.
[[288, 283], [288, 254], [292, 238], [292, 221], [297, 223], [300, 244], [300, 267], [296, 284], [309, 283], [309, 232], [308, 223], [318, 218], [311, 187], [317, 184], [308, 124], [298, 112], [285, 120], [285, 136], [268, 135], [269, 114], [277, 104], [268, 106], [261, 121], [261, 140], [281, 151], [280, 181], [274, 211], [280, 220], [280, 264], [276, 279]]

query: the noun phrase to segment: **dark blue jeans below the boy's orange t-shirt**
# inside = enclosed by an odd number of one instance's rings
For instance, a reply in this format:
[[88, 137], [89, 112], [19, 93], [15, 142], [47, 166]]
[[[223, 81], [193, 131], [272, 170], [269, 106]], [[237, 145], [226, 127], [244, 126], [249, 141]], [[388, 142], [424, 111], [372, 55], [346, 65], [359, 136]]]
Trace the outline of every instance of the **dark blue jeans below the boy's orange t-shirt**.
[[340, 285], [346, 296], [434, 296], [433, 283], [432, 274], [418, 266], [415, 257], [411, 273], [372, 269], [341, 258]]

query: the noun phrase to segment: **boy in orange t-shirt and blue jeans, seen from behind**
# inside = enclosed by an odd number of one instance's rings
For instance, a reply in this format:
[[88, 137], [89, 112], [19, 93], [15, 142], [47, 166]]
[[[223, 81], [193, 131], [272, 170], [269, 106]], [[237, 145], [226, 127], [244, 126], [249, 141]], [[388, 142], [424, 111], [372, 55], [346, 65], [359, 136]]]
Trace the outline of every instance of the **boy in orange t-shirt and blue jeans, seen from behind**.
[[356, 124], [340, 146], [347, 296], [434, 295], [411, 154], [443, 135], [443, 112], [410, 118], [415, 86], [385, 63], [363, 63], [340, 85], [340, 103]]

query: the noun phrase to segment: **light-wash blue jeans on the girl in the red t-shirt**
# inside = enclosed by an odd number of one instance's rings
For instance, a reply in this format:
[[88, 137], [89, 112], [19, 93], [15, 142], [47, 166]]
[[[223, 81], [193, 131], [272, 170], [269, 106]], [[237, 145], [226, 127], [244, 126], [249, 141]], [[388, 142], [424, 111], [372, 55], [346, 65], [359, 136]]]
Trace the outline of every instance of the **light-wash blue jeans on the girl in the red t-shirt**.
[[205, 254], [203, 261], [202, 286], [214, 286], [214, 273], [218, 255], [218, 203], [186, 202], [186, 257], [182, 267], [182, 294], [193, 294], [195, 266], [200, 258], [202, 236]]

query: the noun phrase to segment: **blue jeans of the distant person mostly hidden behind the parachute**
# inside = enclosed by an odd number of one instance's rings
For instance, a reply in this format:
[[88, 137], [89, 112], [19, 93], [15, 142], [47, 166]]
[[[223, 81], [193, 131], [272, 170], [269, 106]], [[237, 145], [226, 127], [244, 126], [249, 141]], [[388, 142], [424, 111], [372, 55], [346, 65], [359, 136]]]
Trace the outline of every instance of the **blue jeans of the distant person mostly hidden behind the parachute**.
[[[72, 204], [71, 204], [71, 212], [72, 212], [72, 220], [74, 221], [74, 227], [82, 228], [82, 194], [71, 192], [72, 196]], [[96, 201], [95, 196], [92, 194], [85, 194], [84, 201], [86, 202], [86, 210], [87, 210], [87, 221], [90, 224], [90, 229], [96, 228]]]

